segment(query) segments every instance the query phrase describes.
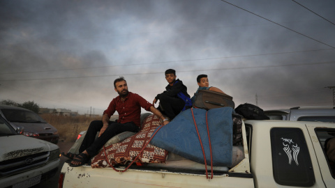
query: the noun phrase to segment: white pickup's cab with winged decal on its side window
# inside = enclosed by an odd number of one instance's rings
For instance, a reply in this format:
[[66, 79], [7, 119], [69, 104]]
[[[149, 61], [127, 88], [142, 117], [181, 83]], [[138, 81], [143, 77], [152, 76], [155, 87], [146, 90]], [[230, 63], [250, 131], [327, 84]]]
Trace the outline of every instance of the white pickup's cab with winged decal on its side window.
[[334, 123], [246, 120], [255, 187], [334, 187], [325, 141]]

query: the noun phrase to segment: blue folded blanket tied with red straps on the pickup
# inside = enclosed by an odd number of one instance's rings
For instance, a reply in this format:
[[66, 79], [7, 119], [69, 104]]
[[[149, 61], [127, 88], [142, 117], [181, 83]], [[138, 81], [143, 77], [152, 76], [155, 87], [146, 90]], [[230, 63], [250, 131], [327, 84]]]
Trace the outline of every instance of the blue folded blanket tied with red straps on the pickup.
[[[207, 113], [214, 166], [230, 166], [232, 164], [232, 112], [233, 109], [231, 107], [223, 107], [210, 109]], [[211, 156], [206, 125], [206, 110], [193, 109], [193, 114], [198, 125], [207, 165], [210, 165]], [[161, 130], [156, 133], [150, 143], [186, 159], [204, 164], [204, 155], [197, 130], [195, 129], [191, 109], [182, 111], [168, 125], [161, 127]]]

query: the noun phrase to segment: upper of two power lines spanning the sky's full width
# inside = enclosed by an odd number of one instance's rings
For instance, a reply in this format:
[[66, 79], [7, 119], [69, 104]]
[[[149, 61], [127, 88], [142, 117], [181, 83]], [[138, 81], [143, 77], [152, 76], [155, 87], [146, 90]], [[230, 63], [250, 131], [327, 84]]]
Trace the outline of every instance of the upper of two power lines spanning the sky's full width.
[[110, 66], [100, 66], [100, 67], [89, 67], [89, 68], [69, 68], [69, 69], [58, 69], [58, 70], [37, 70], [37, 71], [27, 71], [27, 72], [2, 72], [1, 75], [13, 75], [13, 74], [24, 74], [24, 73], [36, 73], [36, 72], [57, 72], [57, 71], [66, 71], [66, 70], [87, 70], [94, 68], [116, 68], [116, 67], [125, 67], [125, 66], [133, 66], [133, 65], [150, 65], [150, 64], [160, 64], [160, 63], [178, 63], [178, 62], [187, 62], [187, 61], [204, 61], [204, 60], [215, 60], [221, 58], [243, 58], [243, 57], [251, 57], [251, 56], [268, 56], [268, 55], [278, 55], [278, 54], [295, 54], [301, 52], [318, 52], [325, 50], [334, 50], [334, 49], [312, 49], [312, 50], [304, 50], [304, 51], [294, 51], [294, 52], [276, 52], [269, 54], [251, 54], [251, 55], [241, 55], [241, 56], [224, 56], [224, 57], [214, 57], [214, 58], [195, 58], [195, 59], [186, 59], [186, 60], [178, 60], [178, 61], [158, 61], [151, 63], [133, 63], [133, 64], [124, 64], [124, 65], [110, 65]]

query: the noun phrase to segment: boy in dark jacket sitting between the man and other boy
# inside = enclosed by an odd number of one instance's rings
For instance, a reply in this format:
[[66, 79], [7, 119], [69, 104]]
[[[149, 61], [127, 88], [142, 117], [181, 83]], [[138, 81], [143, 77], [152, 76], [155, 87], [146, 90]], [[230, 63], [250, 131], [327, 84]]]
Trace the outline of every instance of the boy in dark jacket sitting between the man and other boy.
[[187, 87], [183, 82], [177, 79], [176, 71], [168, 69], [165, 71], [165, 79], [168, 81], [168, 86], [165, 87], [166, 91], [158, 94], [153, 104], [159, 100], [159, 109], [165, 116], [172, 120], [181, 111], [192, 107], [190, 95], [187, 93]]

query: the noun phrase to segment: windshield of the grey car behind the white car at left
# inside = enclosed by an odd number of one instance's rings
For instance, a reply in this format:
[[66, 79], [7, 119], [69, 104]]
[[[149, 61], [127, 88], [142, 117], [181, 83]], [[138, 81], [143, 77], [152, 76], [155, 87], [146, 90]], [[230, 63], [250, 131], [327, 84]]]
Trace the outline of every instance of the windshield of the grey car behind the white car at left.
[[25, 111], [20, 109], [2, 109], [5, 118], [10, 122], [17, 123], [46, 123], [45, 120], [40, 118], [32, 111]]

